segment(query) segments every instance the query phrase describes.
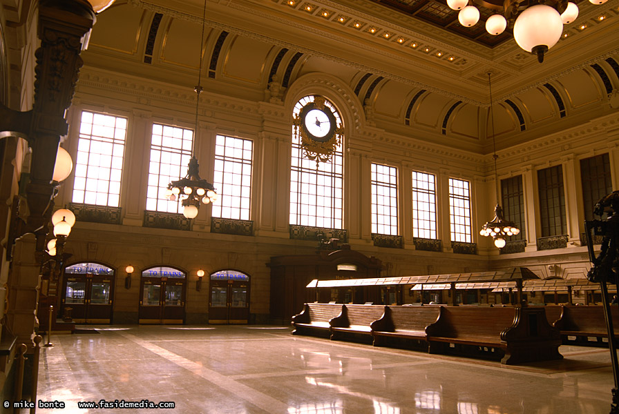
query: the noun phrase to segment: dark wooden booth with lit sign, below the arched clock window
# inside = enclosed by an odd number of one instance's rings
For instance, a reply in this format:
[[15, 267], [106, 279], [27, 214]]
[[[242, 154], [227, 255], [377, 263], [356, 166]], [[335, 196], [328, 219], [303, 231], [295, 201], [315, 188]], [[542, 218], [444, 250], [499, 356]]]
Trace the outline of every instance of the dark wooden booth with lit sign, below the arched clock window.
[[[271, 308], [273, 322], [289, 324], [292, 315], [303, 310], [305, 302], [314, 302], [315, 293], [306, 288], [313, 279], [361, 279], [379, 277], [383, 265], [376, 257], [368, 257], [350, 248], [318, 250], [314, 255], [289, 255], [271, 258]], [[324, 302], [359, 303], [352, 289], [322, 293]], [[333, 297], [332, 295], [336, 295]], [[361, 299], [359, 299], [361, 300]], [[364, 302], [361, 302], [364, 303]]]

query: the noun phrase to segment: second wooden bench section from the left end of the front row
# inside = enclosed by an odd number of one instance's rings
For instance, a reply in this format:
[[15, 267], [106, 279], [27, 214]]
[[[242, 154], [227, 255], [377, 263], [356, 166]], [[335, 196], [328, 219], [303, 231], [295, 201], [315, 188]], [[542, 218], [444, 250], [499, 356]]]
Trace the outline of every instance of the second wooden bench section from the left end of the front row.
[[345, 305], [342, 315], [331, 320], [331, 339], [356, 337], [372, 341], [372, 322], [385, 313], [382, 305]]

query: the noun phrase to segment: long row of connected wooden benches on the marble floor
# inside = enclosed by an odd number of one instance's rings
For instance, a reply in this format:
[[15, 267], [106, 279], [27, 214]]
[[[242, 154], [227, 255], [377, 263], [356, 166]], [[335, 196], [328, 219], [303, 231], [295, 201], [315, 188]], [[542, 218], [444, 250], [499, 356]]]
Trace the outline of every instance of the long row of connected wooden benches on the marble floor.
[[[600, 319], [601, 316], [601, 319]], [[600, 325], [601, 320], [601, 325]], [[619, 315], [616, 321], [619, 322]], [[294, 335], [403, 344], [430, 353], [500, 357], [502, 364], [561, 359], [569, 337], [604, 337], [600, 306], [488, 307], [305, 304]], [[603, 329], [602, 329], [603, 328]], [[618, 330], [619, 331], [619, 330]]]

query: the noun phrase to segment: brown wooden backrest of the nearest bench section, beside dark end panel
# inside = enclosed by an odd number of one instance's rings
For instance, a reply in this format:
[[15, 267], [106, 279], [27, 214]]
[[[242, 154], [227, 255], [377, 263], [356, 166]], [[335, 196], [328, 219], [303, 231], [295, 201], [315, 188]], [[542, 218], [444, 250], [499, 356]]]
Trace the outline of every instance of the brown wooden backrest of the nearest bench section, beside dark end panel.
[[515, 308], [475, 308], [441, 306], [441, 315], [426, 333], [432, 336], [459, 337], [476, 335], [497, 337], [513, 325]]

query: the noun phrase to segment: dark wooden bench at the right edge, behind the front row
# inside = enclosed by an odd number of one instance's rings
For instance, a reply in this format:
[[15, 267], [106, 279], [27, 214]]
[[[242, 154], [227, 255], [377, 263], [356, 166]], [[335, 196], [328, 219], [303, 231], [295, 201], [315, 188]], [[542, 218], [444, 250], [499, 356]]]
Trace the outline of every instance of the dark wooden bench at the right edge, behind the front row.
[[[604, 308], [598, 305], [561, 306], [560, 318], [554, 326], [561, 332], [565, 344], [608, 346], [608, 328], [604, 318]], [[611, 305], [611, 317], [615, 337], [619, 339], [619, 308]]]

